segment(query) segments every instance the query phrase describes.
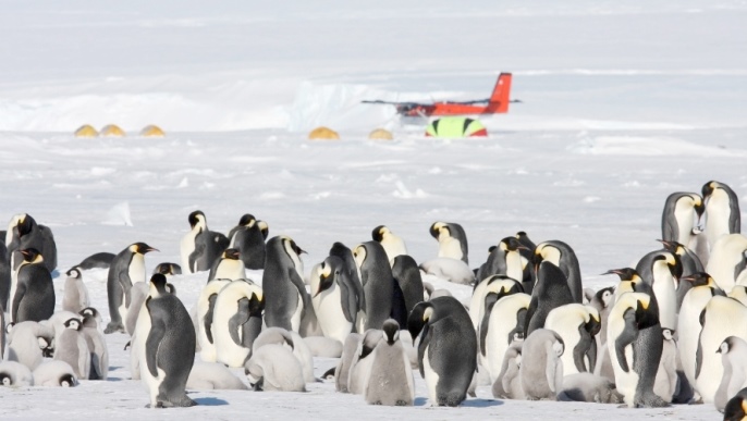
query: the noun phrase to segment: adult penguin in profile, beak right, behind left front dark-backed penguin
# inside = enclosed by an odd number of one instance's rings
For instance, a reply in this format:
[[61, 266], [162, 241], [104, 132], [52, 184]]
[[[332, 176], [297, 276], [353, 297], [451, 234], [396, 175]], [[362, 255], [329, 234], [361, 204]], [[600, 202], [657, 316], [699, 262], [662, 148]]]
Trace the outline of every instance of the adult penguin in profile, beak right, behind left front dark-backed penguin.
[[123, 320], [131, 304], [132, 285], [145, 282], [145, 253], [158, 251], [145, 243], [134, 243], [120, 251], [109, 268], [107, 293], [111, 321], [103, 333], [124, 332]]

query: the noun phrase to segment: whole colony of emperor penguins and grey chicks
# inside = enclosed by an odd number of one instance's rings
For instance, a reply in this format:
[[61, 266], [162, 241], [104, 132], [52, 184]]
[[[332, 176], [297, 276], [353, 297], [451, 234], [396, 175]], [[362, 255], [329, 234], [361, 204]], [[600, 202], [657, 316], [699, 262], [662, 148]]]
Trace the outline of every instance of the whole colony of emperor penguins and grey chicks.
[[[305, 251], [287, 236], [268, 239], [252, 214], [228, 236], [200, 211], [187, 221], [181, 265], [161, 263], [148, 278], [144, 255], [157, 249], [145, 243], [93, 255], [66, 272], [56, 312], [52, 233], [13, 216], [0, 246], [2, 385], [107, 380], [103, 334], [120, 332], [150, 407], [196, 405], [189, 388], [305, 392], [323, 356], [340, 358], [326, 374], [335, 389], [370, 405], [412, 406], [415, 369], [434, 406], [490, 384], [501, 399], [709, 404], [726, 420], [746, 417], [747, 237], [723, 183], [670, 195], [662, 248], [610, 269], [620, 282], [600, 290], [584, 289], [570, 245], [524, 232], [472, 269], [457, 223], [431, 224], [438, 253], [419, 265], [380, 225], [371, 240], [333, 244], [305, 278]], [[95, 268], [108, 268], [106, 329], [82, 281]], [[247, 269], [264, 270], [261, 283]], [[192, 311], [169, 283], [182, 272], [208, 272]], [[472, 299], [434, 290], [424, 274], [472, 285]]]

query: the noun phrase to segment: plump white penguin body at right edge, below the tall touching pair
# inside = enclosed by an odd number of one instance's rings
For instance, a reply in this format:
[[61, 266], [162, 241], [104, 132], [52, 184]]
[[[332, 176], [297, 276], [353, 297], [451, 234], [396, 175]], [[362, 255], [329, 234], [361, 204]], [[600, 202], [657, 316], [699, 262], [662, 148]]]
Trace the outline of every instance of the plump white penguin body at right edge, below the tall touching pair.
[[724, 234], [711, 246], [711, 257], [706, 272], [721, 289], [732, 290], [737, 277], [747, 267], [747, 236], [743, 234]]

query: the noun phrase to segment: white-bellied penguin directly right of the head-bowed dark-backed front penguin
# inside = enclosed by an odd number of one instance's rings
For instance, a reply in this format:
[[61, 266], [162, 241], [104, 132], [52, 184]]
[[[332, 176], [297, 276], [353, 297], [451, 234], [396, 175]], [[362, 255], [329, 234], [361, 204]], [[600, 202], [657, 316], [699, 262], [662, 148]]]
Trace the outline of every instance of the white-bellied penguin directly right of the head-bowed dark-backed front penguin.
[[503, 370], [503, 358], [511, 344], [524, 340], [524, 324], [530, 300], [531, 297], [523, 293], [499, 299], [490, 311], [488, 326], [480, 326], [482, 367], [488, 370], [491, 383], [495, 383]]

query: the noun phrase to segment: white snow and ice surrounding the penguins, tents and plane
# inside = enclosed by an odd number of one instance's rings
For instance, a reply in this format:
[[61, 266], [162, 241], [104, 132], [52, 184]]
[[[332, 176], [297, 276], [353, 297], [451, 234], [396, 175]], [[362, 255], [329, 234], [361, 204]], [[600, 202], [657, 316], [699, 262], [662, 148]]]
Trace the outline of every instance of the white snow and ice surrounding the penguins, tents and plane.
[[[460, 222], [470, 265], [517, 231], [562, 239], [585, 286], [658, 247], [661, 209], [710, 179], [747, 198], [745, 1], [35, 1], [0, 7], [0, 221], [52, 227], [59, 271], [146, 242], [150, 271], [179, 262], [187, 214], [228, 232], [243, 213], [286, 234], [309, 270], [332, 243], [387, 224], [417, 261], [428, 227]], [[487, 139], [430, 139], [363, 99], [483, 98], [514, 73]], [[117, 123], [125, 138], [76, 139]], [[147, 124], [163, 139], [133, 136]], [[343, 140], [313, 143], [330, 125]], [[392, 129], [394, 141], [367, 140]], [[743, 206], [743, 209], [745, 207]], [[745, 215], [743, 214], [743, 218]], [[57, 274], [59, 275], [59, 273]], [[255, 281], [261, 281], [253, 272]], [[207, 273], [177, 277], [195, 304]], [[84, 274], [107, 313], [106, 271]], [[64, 276], [56, 278], [58, 301]], [[439, 283], [439, 285], [444, 285]], [[466, 299], [467, 287], [448, 285]], [[107, 319], [105, 317], [105, 319]], [[330, 382], [306, 394], [200, 392], [200, 406], [149, 410], [130, 379], [125, 335], [108, 335], [112, 376], [72, 389], [0, 389], [13, 419], [717, 419], [712, 406], [492, 399], [431, 408], [416, 373], [414, 408], [366, 406]], [[321, 375], [335, 364], [316, 359]], [[238, 372], [237, 372], [238, 373]]]

